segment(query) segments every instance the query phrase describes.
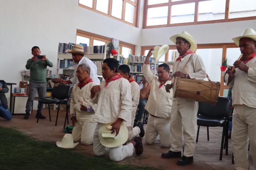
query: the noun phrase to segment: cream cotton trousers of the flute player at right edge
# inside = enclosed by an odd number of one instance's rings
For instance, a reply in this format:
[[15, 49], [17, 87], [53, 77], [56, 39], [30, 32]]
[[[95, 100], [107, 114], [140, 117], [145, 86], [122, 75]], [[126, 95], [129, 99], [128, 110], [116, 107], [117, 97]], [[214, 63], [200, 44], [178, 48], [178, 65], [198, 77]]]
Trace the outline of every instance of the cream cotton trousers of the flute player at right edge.
[[236, 170], [249, 170], [248, 141], [256, 168], [256, 108], [235, 105], [232, 120], [232, 150]]

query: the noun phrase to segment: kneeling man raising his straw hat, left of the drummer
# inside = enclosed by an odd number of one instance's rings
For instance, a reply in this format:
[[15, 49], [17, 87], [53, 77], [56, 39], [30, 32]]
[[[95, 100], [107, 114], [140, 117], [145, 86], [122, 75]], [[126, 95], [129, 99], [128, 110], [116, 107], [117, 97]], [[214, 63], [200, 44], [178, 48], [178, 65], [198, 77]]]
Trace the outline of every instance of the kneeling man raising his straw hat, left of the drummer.
[[[156, 49], [155, 49], [156, 50]], [[168, 49], [169, 50], [169, 46]], [[166, 93], [165, 85], [171, 83], [170, 68], [167, 64], [158, 66], [158, 76], [154, 75], [149, 66], [149, 57], [154, 49], [150, 49], [143, 64], [143, 75], [151, 85], [145, 109], [149, 112], [148, 125], [145, 132], [145, 143], [153, 144], [160, 137], [161, 147], [170, 147], [170, 114], [172, 91]], [[159, 56], [164, 55], [163, 53]]]

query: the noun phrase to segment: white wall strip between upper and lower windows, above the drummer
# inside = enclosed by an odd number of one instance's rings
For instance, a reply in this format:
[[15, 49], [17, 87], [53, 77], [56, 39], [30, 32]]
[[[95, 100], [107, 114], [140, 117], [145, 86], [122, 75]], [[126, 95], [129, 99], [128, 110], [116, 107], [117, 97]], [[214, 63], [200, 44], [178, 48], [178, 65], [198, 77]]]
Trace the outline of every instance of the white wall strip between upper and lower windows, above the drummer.
[[256, 30], [256, 20], [142, 29], [140, 44], [174, 45], [169, 38], [182, 31], [190, 33], [197, 44], [228, 43], [233, 42], [232, 38], [240, 36], [246, 28]]

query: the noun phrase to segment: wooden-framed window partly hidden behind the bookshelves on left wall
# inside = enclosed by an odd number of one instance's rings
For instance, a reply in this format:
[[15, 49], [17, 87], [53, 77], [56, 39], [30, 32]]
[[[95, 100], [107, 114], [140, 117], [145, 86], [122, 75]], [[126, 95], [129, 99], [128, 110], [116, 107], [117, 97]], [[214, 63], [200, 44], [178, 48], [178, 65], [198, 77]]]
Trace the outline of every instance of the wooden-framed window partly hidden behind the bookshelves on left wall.
[[[88, 33], [82, 30], [76, 31], [76, 44], [84, 43], [87, 46], [94, 45], [105, 45], [111, 41], [111, 38]], [[119, 54], [123, 55], [125, 58], [128, 58], [129, 54], [135, 54], [135, 45], [129, 44], [127, 42], [119, 41]]]

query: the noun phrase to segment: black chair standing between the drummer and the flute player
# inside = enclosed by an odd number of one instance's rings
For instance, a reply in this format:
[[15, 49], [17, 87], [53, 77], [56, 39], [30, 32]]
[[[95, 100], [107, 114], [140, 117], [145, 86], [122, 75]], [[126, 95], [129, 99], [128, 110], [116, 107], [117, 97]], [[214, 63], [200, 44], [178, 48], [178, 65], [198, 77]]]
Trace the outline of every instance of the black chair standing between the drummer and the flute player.
[[[222, 142], [220, 147], [220, 160], [222, 160], [224, 138], [226, 142], [226, 155], [228, 155], [228, 117], [229, 117], [230, 101], [226, 97], [218, 97], [218, 102], [215, 106], [205, 102], [198, 102], [198, 115], [197, 115], [197, 138], [200, 126], [208, 127], [223, 127]], [[208, 137], [209, 138], [209, 137]]]

